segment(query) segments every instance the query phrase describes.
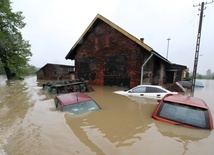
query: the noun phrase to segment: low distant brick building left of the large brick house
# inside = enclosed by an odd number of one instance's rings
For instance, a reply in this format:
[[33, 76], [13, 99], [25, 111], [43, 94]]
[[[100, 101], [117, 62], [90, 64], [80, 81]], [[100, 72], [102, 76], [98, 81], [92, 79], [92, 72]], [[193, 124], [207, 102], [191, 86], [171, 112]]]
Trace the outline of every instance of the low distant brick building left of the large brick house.
[[70, 80], [74, 71], [74, 66], [47, 63], [36, 75], [38, 80]]

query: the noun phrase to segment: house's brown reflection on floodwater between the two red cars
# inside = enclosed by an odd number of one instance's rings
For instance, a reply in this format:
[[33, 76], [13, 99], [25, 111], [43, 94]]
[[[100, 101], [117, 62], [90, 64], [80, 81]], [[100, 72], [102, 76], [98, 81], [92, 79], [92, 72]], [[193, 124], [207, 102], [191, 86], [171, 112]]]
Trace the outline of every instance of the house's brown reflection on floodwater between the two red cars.
[[[101, 111], [87, 118], [66, 115], [68, 125], [80, 141], [98, 154], [108, 154], [113, 148], [128, 148], [141, 141], [138, 134], [150, 128], [154, 104], [137, 104], [112, 93], [112, 88], [95, 87], [95, 90], [88, 95], [100, 103]], [[97, 92], [100, 95], [96, 95]]]

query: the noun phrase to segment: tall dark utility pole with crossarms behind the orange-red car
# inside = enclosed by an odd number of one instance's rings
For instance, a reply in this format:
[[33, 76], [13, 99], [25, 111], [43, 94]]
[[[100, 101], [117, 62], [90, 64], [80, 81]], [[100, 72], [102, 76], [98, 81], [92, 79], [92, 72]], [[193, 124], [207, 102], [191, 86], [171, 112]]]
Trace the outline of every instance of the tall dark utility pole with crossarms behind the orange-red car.
[[[210, 2], [210, 3], [213, 3]], [[200, 18], [199, 18], [199, 26], [198, 26], [198, 35], [197, 35], [197, 42], [196, 42], [196, 49], [195, 49], [195, 60], [194, 60], [194, 66], [193, 66], [193, 79], [192, 79], [192, 92], [194, 92], [195, 89], [195, 79], [196, 79], [196, 73], [197, 73], [197, 66], [198, 66], [198, 56], [199, 56], [199, 47], [200, 47], [200, 40], [201, 40], [201, 29], [202, 29], [202, 20], [203, 20], [203, 13], [204, 13], [204, 5], [210, 4], [210, 3], [204, 3], [202, 2], [199, 5], [193, 5], [194, 7], [201, 6], [200, 9]]]

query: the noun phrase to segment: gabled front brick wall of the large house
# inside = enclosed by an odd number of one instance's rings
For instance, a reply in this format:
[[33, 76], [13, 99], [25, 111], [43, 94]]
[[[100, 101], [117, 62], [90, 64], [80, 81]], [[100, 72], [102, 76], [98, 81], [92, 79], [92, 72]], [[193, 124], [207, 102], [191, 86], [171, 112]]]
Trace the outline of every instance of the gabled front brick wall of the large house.
[[150, 53], [100, 21], [75, 56], [76, 77], [94, 85], [133, 87], [140, 84], [141, 65]]

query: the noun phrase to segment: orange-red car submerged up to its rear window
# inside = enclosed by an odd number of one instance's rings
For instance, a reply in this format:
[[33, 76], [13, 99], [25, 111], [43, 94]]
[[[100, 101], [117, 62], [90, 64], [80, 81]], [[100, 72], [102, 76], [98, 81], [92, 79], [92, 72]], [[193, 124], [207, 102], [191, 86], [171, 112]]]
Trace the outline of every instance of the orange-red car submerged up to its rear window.
[[159, 101], [152, 117], [175, 125], [213, 129], [212, 115], [206, 103], [186, 95], [166, 95]]

